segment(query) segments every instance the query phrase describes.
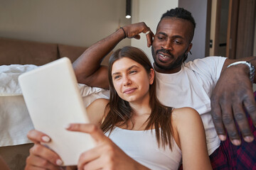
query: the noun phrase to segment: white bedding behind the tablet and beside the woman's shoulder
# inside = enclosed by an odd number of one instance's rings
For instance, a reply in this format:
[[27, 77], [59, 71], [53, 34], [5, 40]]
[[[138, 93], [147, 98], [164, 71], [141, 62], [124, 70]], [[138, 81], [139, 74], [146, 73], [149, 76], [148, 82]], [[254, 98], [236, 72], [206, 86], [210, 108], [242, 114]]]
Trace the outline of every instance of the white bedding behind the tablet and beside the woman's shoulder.
[[[0, 147], [30, 143], [26, 137], [33, 123], [29, 117], [18, 76], [35, 69], [35, 65], [0, 66]], [[85, 107], [97, 98], [109, 98], [105, 89], [78, 84]]]

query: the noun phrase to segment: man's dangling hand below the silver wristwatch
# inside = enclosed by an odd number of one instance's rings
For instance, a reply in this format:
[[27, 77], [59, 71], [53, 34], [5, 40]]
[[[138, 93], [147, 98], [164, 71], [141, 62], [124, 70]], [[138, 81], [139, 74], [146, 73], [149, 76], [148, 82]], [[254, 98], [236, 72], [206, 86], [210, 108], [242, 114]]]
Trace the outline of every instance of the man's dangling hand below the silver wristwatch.
[[245, 72], [245, 67], [247, 66], [244, 64], [238, 64], [225, 69], [220, 75], [210, 102], [213, 123], [220, 140], [226, 140], [225, 130], [227, 130], [233, 145], [241, 144], [235, 122], [238, 123], [238, 128], [246, 142], [254, 140], [245, 110], [256, 125], [256, 105], [252, 83], [248, 72]]

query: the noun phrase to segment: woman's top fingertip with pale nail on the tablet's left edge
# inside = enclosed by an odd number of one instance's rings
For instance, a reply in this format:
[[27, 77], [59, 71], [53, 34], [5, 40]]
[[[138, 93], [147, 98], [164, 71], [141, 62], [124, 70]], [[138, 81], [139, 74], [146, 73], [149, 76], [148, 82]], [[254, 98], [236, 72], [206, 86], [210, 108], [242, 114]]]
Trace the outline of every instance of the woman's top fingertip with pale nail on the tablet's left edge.
[[34, 143], [50, 142], [50, 137], [43, 132], [39, 132], [38, 130], [30, 130], [27, 137]]

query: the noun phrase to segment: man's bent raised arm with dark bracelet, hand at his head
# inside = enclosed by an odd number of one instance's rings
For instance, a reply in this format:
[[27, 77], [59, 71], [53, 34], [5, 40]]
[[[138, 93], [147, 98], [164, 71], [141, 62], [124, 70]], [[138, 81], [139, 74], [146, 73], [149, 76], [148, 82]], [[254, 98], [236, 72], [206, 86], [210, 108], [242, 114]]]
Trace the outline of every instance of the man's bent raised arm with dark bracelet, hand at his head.
[[[107, 67], [101, 66], [103, 58], [114, 49], [114, 47], [124, 38], [139, 39], [139, 33], [146, 33], [150, 28], [145, 23], [134, 23], [120, 28], [107, 38], [96, 42], [89, 47], [73, 63], [75, 75], [78, 82], [88, 86], [97, 86], [104, 89], [109, 88], [107, 79]], [[154, 34], [150, 31], [146, 35], [147, 45], [150, 47]]]

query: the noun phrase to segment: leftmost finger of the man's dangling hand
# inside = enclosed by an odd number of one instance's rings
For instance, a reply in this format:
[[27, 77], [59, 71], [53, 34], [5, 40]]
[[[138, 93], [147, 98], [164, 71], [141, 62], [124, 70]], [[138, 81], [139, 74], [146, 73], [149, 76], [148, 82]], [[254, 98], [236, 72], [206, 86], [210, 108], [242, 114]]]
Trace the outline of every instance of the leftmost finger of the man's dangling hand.
[[215, 126], [215, 130], [218, 134], [218, 137], [220, 140], [224, 141], [226, 140], [226, 134], [225, 134], [225, 128], [223, 125], [223, 120], [221, 116], [221, 109], [218, 101], [216, 101], [214, 98], [211, 98], [211, 115], [213, 118], [213, 124]]

